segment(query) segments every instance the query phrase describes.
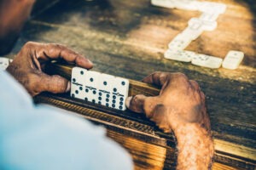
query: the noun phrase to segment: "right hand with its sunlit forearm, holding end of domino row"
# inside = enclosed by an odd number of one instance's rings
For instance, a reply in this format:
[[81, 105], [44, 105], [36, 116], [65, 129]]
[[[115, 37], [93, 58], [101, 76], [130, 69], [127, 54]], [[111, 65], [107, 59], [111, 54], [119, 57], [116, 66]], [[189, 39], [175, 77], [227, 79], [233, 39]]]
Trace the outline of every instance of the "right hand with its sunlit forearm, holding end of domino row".
[[173, 131], [177, 138], [177, 169], [210, 169], [214, 149], [205, 95], [198, 83], [181, 73], [167, 72], [154, 72], [143, 82], [160, 86], [160, 94], [129, 97], [127, 108], [145, 113], [165, 132]]

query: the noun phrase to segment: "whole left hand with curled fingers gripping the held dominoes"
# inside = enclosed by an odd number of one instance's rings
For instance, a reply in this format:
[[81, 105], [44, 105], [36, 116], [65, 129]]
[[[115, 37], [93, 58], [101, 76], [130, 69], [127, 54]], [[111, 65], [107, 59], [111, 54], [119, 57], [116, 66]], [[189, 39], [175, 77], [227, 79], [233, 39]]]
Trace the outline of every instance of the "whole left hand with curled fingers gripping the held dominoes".
[[50, 59], [64, 59], [80, 67], [90, 69], [89, 59], [59, 44], [27, 42], [9, 65], [7, 71], [35, 96], [41, 92], [65, 93], [70, 90], [70, 82], [60, 76], [44, 73], [44, 64]]

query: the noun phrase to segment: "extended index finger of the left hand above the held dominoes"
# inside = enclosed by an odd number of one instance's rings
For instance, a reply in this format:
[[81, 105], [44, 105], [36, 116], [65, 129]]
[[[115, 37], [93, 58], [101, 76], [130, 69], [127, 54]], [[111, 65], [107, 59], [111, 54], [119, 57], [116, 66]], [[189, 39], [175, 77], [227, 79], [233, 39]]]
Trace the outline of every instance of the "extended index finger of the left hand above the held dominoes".
[[67, 62], [74, 63], [86, 69], [90, 69], [93, 66], [89, 59], [86, 59], [81, 54], [78, 54], [63, 45], [55, 43], [30, 43], [36, 48], [37, 57], [40, 59], [64, 59]]

